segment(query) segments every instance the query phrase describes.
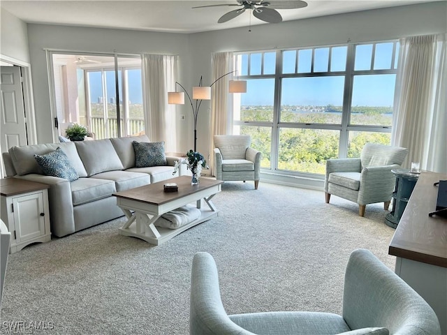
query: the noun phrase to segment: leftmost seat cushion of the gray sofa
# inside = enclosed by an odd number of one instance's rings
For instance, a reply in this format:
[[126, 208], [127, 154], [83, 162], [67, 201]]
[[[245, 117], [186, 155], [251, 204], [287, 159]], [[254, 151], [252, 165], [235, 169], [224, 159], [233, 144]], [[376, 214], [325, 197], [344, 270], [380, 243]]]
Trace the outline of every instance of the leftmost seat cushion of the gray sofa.
[[80, 178], [71, 182], [73, 206], [108, 198], [116, 191], [115, 181], [112, 180]]

